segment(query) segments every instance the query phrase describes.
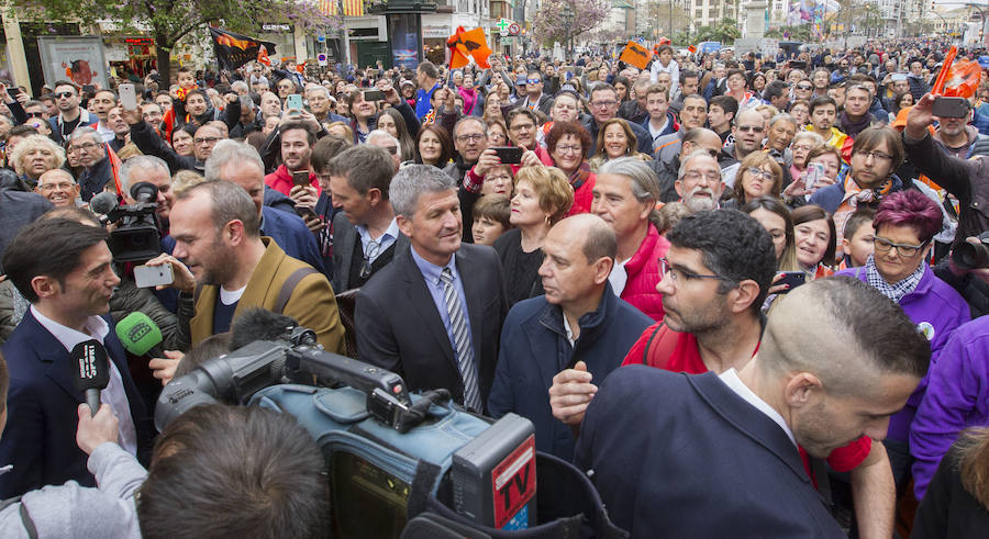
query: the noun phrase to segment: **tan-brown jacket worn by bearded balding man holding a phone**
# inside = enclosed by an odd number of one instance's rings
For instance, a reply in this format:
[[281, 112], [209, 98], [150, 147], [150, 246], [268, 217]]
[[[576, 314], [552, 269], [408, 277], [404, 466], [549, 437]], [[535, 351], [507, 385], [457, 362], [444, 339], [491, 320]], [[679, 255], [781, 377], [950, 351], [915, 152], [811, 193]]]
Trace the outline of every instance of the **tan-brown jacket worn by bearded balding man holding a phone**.
[[[265, 236], [262, 242], [266, 247], [265, 254], [247, 281], [244, 295], [234, 311], [234, 318], [251, 307], [274, 311], [281, 284], [297, 269], [308, 266], [286, 255], [271, 238]], [[196, 316], [190, 322], [192, 346], [213, 334], [213, 310], [219, 292], [218, 285], [209, 284], [202, 287], [196, 299]], [[315, 332], [316, 339], [326, 351], [346, 355], [344, 327], [336, 310], [336, 297], [330, 281], [322, 273], [310, 273], [299, 281], [281, 314], [291, 316], [300, 326]]]

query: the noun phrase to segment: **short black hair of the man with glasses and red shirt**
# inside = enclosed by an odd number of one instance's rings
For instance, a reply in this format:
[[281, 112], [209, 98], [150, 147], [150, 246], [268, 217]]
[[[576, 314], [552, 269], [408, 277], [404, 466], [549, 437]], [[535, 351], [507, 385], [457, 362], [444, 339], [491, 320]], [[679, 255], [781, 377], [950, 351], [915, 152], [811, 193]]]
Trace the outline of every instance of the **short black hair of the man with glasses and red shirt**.
[[666, 234], [678, 248], [701, 251], [704, 266], [720, 276], [718, 292], [726, 294], [744, 280], [759, 285], [752, 305], [755, 314], [763, 307], [776, 276], [776, 248], [758, 221], [736, 210], [713, 210], [681, 218]]

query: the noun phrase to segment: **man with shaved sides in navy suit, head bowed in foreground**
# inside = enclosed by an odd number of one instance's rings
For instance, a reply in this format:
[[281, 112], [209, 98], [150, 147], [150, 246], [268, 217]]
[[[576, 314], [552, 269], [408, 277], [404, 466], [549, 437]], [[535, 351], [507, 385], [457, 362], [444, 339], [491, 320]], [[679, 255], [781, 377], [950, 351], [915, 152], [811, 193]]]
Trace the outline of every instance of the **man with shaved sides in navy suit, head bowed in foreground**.
[[614, 371], [587, 408], [575, 460], [632, 537], [844, 538], [798, 443], [825, 458], [863, 435], [881, 440], [930, 358], [878, 291], [816, 280], [777, 305], [738, 371]]

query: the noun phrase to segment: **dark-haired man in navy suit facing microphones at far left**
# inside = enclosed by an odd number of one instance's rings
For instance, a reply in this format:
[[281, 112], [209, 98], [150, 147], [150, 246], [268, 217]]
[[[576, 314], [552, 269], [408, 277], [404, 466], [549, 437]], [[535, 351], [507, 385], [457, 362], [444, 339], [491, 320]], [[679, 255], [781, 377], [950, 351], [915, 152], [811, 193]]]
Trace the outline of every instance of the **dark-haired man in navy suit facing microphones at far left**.
[[97, 339], [110, 356], [110, 383], [100, 400], [120, 419], [121, 447], [131, 454], [149, 447], [147, 413], [107, 316], [120, 278], [105, 239], [102, 228], [45, 220], [24, 227], [3, 255], [8, 278], [31, 307], [3, 346], [11, 384], [0, 462], [13, 469], [0, 475], [0, 497], [68, 480], [95, 484], [76, 445], [85, 395], [73, 384], [69, 351], [79, 343]]

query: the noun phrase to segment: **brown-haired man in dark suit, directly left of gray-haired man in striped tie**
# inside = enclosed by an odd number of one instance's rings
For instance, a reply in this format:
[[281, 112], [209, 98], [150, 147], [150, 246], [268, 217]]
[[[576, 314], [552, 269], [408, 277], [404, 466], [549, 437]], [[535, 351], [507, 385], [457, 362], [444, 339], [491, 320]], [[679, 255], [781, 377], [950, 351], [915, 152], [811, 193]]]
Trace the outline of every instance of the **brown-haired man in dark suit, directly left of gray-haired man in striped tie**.
[[333, 193], [333, 290], [360, 288], [396, 257], [409, 249], [401, 234], [388, 188], [395, 175], [391, 156], [362, 144], [326, 164]]

